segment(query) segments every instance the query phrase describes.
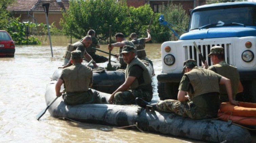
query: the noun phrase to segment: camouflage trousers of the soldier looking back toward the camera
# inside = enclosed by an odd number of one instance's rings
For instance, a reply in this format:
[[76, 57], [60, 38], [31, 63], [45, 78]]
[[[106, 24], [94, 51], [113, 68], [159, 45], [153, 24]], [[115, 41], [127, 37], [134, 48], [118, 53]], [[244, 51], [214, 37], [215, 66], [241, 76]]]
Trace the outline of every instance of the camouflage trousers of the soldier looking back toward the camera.
[[145, 101], [150, 102], [153, 97], [153, 93], [152, 91], [145, 91], [142, 89], [118, 92], [115, 94], [114, 104], [118, 104], [118, 105], [136, 104], [135, 103], [136, 97], [142, 98]]

